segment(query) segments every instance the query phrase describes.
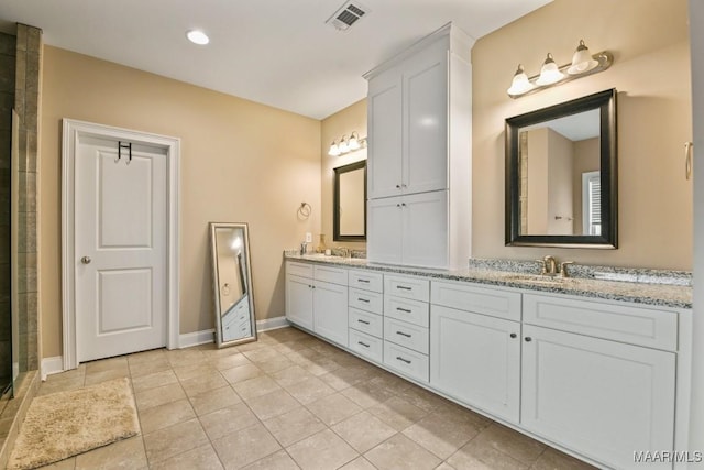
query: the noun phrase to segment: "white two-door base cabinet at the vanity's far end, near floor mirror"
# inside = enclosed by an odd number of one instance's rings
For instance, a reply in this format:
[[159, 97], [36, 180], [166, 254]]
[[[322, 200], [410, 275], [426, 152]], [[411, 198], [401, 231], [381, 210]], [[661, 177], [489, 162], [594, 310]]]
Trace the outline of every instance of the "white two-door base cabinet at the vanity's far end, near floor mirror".
[[286, 262], [286, 319], [348, 346], [348, 270]]

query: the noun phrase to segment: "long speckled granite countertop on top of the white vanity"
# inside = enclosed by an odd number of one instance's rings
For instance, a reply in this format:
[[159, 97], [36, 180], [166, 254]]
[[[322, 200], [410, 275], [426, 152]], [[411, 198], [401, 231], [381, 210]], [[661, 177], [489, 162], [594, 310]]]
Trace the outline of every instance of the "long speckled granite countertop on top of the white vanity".
[[[371, 263], [363, 258], [323, 254], [300, 255], [290, 251], [284, 252], [284, 255], [287, 260], [332, 264], [384, 273], [422, 275], [438, 280], [463, 281], [524, 291], [624, 300], [671, 308], [692, 308], [691, 275], [682, 272], [574, 266], [574, 277], [560, 278], [539, 275], [537, 274], [537, 264], [527, 262], [473, 263], [470, 261], [470, 267], [464, 270], [428, 270]], [[502, 267], [507, 266], [510, 267], [510, 271], [502, 270]], [[526, 266], [530, 266], [534, 271], [527, 272]], [[612, 278], [623, 278], [625, 281], [614, 281]]]

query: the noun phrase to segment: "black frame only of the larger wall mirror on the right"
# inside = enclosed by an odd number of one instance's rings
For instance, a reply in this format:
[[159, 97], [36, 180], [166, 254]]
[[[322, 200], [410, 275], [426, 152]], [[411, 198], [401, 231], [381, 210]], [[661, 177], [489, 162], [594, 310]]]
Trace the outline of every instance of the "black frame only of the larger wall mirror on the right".
[[[592, 109], [600, 110], [601, 129], [601, 236], [549, 236], [520, 233], [519, 155], [518, 132], [521, 128], [576, 114]], [[601, 91], [583, 98], [554, 105], [537, 111], [506, 119], [506, 245], [563, 247], [563, 248], [617, 248], [618, 179], [616, 140], [616, 89]]]

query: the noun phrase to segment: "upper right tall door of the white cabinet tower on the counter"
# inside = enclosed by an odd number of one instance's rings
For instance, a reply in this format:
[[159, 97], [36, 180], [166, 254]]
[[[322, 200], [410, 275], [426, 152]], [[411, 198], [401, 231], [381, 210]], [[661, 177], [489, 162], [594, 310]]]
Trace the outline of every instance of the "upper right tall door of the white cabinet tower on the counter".
[[404, 194], [447, 189], [448, 50], [443, 41], [405, 63], [403, 90]]

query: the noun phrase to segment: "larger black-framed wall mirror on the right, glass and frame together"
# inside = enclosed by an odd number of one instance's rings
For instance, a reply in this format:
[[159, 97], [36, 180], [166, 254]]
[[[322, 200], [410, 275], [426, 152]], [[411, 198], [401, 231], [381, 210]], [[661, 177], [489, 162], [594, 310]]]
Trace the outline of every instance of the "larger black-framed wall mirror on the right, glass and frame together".
[[617, 247], [616, 90], [506, 119], [506, 245]]

